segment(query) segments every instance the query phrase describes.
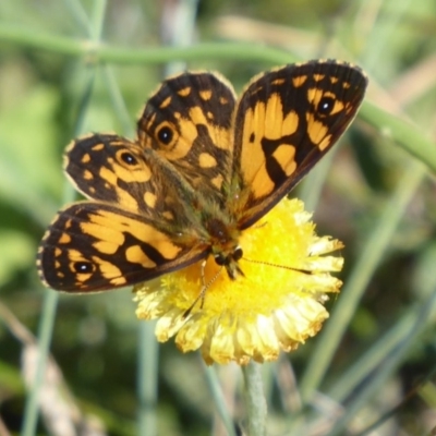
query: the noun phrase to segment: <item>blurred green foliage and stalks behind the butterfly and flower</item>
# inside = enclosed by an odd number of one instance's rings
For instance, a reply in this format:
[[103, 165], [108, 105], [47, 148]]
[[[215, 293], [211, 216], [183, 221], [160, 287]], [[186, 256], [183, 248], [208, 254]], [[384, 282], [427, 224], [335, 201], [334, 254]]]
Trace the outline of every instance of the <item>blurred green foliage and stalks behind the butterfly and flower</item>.
[[[38, 367], [31, 332], [50, 347], [77, 428], [93, 415], [110, 435], [227, 434], [220, 405], [243, 425], [239, 368], [205, 370], [172, 343], [157, 349], [129, 290], [43, 289], [35, 254], [58, 208], [75, 198], [61, 171], [74, 136], [132, 135], [147, 96], [180, 68], [217, 70], [240, 90], [261, 71], [313, 58], [359, 63], [371, 87], [334, 156], [292, 193], [316, 210], [320, 234], [344, 241], [346, 286], [318, 337], [264, 365], [268, 434], [374, 425], [374, 434], [428, 435], [436, 426], [433, 0], [3, 0], [0, 434], [1, 425], [34, 434], [34, 391], [23, 382]], [[38, 434], [61, 434], [43, 417]]]

